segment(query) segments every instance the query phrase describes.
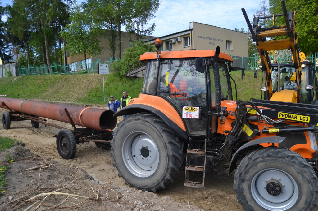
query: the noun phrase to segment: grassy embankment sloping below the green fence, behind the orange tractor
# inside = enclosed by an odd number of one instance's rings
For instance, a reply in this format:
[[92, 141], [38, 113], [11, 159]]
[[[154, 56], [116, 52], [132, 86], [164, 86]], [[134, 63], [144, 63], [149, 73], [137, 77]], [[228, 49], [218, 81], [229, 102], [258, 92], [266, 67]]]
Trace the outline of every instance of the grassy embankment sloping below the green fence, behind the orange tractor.
[[[240, 71], [232, 72], [236, 81], [238, 99], [260, 98], [261, 73], [254, 79], [253, 72], [245, 71], [241, 80]], [[88, 105], [107, 105], [110, 96], [120, 100], [122, 91], [126, 90], [132, 98], [139, 96], [143, 79], [117, 78], [114, 74], [105, 75], [105, 103], [103, 97], [103, 75], [40, 75], [0, 78], [0, 95], [8, 94], [10, 98], [33, 99], [46, 102], [61, 102]], [[235, 86], [233, 81], [233, 99]]]

